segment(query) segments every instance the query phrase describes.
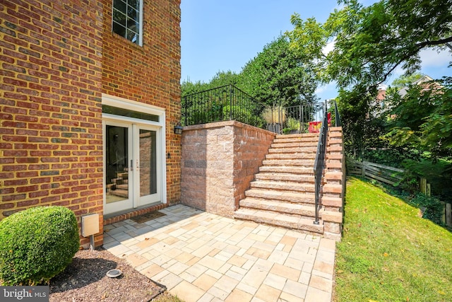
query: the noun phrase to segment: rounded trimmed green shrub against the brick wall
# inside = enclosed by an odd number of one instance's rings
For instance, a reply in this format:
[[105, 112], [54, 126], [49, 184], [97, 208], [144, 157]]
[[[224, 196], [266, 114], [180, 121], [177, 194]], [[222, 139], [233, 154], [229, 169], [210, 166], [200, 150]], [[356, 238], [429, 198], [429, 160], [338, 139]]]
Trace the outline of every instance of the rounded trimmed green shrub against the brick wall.
[[65, 207], [34, 207], [0, 221], [3, 285], [48, 284], [80, 246], [77, 219]]

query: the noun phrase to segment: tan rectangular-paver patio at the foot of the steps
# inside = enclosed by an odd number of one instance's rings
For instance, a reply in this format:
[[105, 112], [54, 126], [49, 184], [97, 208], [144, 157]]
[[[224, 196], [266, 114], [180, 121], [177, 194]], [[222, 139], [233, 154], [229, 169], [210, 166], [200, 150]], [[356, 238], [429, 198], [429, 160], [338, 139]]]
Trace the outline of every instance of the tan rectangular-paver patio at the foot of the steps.
[[190, 301], [331, 301], [335, 241], [199, 211], [105, 226], [104, 248]]

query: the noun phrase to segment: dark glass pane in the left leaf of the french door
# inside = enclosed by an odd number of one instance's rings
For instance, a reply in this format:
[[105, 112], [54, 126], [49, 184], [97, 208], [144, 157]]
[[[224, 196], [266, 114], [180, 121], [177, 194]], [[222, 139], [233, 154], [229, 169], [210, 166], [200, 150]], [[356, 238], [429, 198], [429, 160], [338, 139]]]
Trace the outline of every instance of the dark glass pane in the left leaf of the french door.
[[129, 198], [128, 128], [107, 125], [106, 190], [107, 204]]

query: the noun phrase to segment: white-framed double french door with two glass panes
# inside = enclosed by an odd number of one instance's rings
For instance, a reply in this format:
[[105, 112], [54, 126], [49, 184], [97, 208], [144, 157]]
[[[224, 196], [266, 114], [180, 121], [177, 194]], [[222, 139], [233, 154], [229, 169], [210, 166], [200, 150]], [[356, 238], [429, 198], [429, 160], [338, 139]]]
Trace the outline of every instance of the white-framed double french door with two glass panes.
[[105, 121], [105, 214], [161, 202], [160, 128]]

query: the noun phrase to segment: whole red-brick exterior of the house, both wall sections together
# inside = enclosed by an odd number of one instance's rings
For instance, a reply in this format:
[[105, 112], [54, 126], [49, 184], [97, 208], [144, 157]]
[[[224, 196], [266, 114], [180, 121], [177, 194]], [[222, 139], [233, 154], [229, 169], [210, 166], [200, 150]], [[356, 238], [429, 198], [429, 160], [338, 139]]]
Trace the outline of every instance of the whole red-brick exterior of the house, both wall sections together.
[[99, 213], [102, 243], [102, 93], [165, 108], [179, 201], [180, 0], [143, 2], [143, 47], [112, 33], [111, 0], [0, 2], [0, 219], [51, 204], [79, 223]]

